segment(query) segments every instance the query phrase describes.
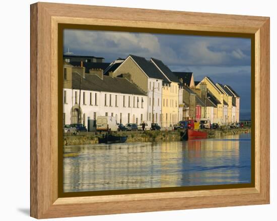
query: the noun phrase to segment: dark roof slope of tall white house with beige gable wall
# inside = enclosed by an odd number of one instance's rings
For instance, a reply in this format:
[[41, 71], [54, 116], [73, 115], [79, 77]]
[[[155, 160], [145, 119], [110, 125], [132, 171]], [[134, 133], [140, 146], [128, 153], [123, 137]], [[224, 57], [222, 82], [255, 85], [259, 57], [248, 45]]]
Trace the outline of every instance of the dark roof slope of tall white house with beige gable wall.
[[163, 73], [152, 63], [150, 60], [146, 60], [144, 57], [136, 55], [129, 55], [138, 66], [140, 66], [149, 78], [161, 79], [165, 83], [170, 83]]

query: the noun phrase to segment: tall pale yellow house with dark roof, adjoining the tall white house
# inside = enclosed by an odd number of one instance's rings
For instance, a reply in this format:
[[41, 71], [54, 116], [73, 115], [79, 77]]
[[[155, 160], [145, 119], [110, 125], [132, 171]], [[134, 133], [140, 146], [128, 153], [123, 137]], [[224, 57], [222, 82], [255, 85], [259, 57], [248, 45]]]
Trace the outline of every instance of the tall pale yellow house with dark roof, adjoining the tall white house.
[[[163, 73], [170, 83], [163, 82], [162, 87], [162, 127], [170, 127], [177, 124], [179, 119], [179, 80], [161, 60], [151, 58], [151, 61]], [[180, 96], [182, 97], [182, 96]]]

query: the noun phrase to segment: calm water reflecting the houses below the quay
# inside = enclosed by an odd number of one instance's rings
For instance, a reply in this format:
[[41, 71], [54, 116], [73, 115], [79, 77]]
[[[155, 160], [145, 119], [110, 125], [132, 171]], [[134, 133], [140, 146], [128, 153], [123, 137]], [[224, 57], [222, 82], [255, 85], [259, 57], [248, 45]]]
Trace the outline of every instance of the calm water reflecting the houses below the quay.
[[251, 134], [65, 146], [64, 192], [251, 182]]

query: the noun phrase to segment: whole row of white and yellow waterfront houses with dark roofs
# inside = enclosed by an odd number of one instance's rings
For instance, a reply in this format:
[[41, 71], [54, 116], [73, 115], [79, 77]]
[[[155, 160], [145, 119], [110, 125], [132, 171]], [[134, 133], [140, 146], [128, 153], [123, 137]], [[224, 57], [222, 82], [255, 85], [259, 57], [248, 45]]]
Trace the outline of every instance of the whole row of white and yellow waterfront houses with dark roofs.
[[107, 63], [103, 57], [64, 55], [63, 124], [95, 130], [97, 116], [118, 123], [158, 123], [209, 118], [220, 125], [239, 122], [239, 95], [209, 77], [174, 72], [155, 58], [128, 55]]

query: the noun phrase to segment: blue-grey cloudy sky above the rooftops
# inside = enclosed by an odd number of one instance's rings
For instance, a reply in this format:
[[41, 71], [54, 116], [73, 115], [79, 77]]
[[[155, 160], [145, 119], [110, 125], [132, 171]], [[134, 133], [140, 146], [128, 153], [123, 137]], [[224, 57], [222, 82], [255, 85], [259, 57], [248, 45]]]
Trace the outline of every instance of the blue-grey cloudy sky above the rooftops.
[[111, 62], [129, 54], [161, 59], [172, 71], [192, 71], [230, 85], [241, 96], [241, 112], [250, 113], [251, 40], [113, 31], [64, 30], [64, 50], [104, 57]]

